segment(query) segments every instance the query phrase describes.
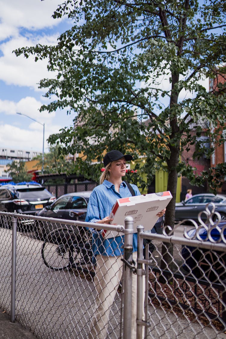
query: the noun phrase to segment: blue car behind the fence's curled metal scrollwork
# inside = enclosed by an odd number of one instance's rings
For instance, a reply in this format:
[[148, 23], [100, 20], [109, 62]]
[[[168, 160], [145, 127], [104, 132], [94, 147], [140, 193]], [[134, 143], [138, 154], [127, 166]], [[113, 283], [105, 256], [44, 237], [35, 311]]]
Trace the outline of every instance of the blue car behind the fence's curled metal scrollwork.
[[[225, 225], [225, 221], [221, 221], [218, 227], [222, 229]], [[223, 233], [226, 238], [226, 228]], [[204, 227], [198, 230], [198, 234], [203, 241], [206, 239], [209, 241]], [[213, 228], [210, 234], [214, 241], [219, 240], [220, 233], [217, 228]], [[188, 236], [197, 239], [196, 229], [192, 228], [188, 231]], [[182, 257], [185, 259], [184, 270], [192, 273], [198, 279], [208, 279], [217, 283], [226, 278], [226, 252], [183, 246]]]

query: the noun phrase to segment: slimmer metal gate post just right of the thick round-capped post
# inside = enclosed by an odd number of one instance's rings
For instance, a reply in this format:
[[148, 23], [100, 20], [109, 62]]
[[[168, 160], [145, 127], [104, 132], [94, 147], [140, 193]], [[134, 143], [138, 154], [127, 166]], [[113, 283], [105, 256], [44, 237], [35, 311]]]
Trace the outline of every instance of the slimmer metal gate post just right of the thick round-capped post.
[[144, 227], [137, 227], [137, 339], [142, 339], [143, 330], [143, 238], [140, 237], [140, 232], [144, 231]]

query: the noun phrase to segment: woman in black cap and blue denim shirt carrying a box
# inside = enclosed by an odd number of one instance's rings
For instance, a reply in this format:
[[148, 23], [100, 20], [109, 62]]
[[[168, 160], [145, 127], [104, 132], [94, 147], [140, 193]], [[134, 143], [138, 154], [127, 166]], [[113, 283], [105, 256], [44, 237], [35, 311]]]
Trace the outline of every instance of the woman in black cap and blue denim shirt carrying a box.
[[[105, 171], [100, 177], [100, 185], [90, 195], [85, 221], [108, 224], [111, 208], [116, 199], [130, 197], [131, 193], [122, 177], [126, 174], [126, 161], [131, 155], [123, 155], [112, 150], [103, 159]], [[138, 187], [131, 185], [135, 195], [140, 195]], [[157, 214], [161, 217], [164, 211]], [[96, 308], [91, 319], [89, 338], [104, 339], [107, 336], [110, 306], [114, 302], [117, 287], [122, 276], [124, 236], [104, 239], [101, 231], [93, 229], [93, 252], [96, 257], [94, 283], [97, 291]], [[137, 233], [133, 234], [133, 258], [137, 258]], [[137, 277], [132, 275], [132, 338], [136, 338], [136, 295]]]

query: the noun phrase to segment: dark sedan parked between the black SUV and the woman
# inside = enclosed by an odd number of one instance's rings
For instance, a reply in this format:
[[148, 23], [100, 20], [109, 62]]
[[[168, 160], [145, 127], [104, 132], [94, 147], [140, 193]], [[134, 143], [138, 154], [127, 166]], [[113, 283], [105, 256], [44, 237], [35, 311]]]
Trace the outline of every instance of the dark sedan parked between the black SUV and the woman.
[[[58, 198], [52, 205], [46, 206], [37, 213], [37, 216], [46, 218], [68, 219], [70, 221], [77, 220], [76, 216], [71, 216], [70, 211], [79, 213], [79, 220], [84, 221], [87, 212], [87, 204], [91, 191], [64, 194]], [[81, 213], [82, 212], [82, 213]], [[36, 237], [43, 238], [51, 232], [56, 225], [54, 223], [36, 221], [35, 234]]]

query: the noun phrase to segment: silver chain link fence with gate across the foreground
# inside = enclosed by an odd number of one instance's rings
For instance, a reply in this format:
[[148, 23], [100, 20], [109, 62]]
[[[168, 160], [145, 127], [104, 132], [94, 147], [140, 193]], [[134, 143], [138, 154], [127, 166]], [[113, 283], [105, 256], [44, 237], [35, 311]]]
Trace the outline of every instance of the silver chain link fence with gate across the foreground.
[[[100, 231], [103, 225], [2, 212], [0, 307], [38, 338], [133, 339], [136, 322], [137, 338], [226, 338], [226, 225], [212, 223], [211, 216], [205, 227], [193, 225], [195, 231], [185, 229], [183, 237], [138, 226], [137, 263], [132, 221], [104, 225], [120, 232], [118, 246], [125, 246], [124, 261], [114, 260], [113, 267], [107, 256], [93, 260], [90, 227]], [[97, 237], [104, 240], [102, 231]], [[110, 299], [98, 306], [102, 265], [106, 275], [115, 272], [115, 281], [104, 278]]]

